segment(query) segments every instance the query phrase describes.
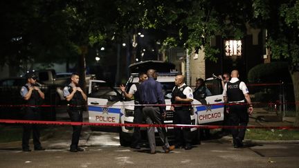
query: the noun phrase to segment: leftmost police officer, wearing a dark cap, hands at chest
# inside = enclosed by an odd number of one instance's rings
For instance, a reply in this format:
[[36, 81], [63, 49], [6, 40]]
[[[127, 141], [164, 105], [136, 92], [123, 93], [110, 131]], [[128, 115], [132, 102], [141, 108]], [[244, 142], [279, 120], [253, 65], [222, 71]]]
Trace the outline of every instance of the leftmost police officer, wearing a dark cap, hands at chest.
[[[44, 93], [36, 84], [37, 76], [34, 73], [26, 75], [27, 83], [21, 87], [21, 96], [25, 100], [27, 106], [25, 107], [24, 120], [41, 120], [39, 106], [44, 100]], [[23, 151], [31, 151], [29, 148], [29, 139], [31, 131], [33, 131], [33, 144], [35, 151], [45, 150], [39, 141], [39, 125], [38, 124], [24, 124], [22, 149]]]

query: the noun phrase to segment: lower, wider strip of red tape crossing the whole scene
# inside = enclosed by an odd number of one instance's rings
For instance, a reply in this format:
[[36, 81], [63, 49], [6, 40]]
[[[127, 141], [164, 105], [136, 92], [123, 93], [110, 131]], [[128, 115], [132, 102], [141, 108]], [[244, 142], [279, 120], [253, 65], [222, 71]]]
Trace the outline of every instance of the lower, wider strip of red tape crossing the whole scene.
[[225, 126], [225, 125], [191, 125], [191, 124], [134, 124], [134, 123], [91, 123], [91, 122], [62, 122], [62, 121], [40, 121], [40, 120], [0, 120], [5, 124], [51, 124], [51, 125], [85, 125], [102, 127], [179, 127], [179, 128], [198, 128], [198, 129], [298, 129], [292, 126]]

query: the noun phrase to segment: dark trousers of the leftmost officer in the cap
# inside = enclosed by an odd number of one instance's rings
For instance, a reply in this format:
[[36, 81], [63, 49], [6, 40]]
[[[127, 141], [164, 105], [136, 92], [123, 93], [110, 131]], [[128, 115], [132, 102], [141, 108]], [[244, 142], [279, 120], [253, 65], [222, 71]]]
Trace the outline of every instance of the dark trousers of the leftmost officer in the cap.
[[[24, 120], [41, 120], [41, 115], [38, 107], [27, 107], [25, 109]], [[22, 148], [29, 149], [29, 139], [33, 131], [33, 144], [35, 148], [41, 147], [39, 142], [39, 124], [24, 124], [23, 126], [23, 138]]]

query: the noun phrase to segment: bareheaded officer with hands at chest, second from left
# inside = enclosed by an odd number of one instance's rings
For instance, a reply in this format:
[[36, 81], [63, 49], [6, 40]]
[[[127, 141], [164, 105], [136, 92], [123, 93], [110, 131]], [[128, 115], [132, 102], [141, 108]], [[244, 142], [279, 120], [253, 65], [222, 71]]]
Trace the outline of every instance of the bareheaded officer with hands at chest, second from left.
[[[71, 84], [64, 87], [64, 97], [69, 102], [69, 116], [72, 122], [82, 122], [82, 112], [85, 109], [87, 95], [79, 87], [79, 75], [73, 73], [71, 75]], [[84, 149], [78, 147], [80, 133], [82, 125], [73, 125], [73, 136], [71, 140], [71, 152], [84, 151]]]

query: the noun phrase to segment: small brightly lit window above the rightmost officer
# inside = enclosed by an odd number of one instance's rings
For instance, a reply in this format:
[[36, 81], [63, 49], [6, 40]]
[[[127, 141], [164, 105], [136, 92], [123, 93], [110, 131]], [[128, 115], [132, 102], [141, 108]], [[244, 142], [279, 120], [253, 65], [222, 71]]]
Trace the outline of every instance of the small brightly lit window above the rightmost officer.
[[241, 40], [226, 40], [224, 41], [226, 56], [241, 56], [242, 41]]

